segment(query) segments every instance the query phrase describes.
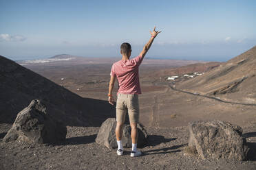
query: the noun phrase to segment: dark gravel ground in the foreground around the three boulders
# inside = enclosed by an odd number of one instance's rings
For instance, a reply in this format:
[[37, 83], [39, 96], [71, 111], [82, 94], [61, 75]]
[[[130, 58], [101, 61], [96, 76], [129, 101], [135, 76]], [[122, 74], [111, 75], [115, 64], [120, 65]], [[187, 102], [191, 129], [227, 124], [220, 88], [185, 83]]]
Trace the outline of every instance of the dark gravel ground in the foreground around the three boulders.
[[148, 145], [142, 156], [123, 156], [116, 149], [95, 143], [99, 127], [67, 127], [67, 140], [56, 145], [3, 143], [10, 128], [0, 125], [0, 169], [256, 169], [256, 123], [244, 127], [250, 153], [247, 161], [202, 160], [183, 151], [187, 146], [187, 127], [146, 127]]

